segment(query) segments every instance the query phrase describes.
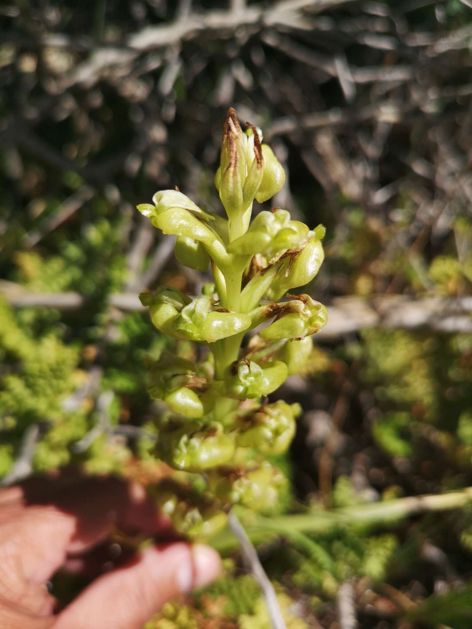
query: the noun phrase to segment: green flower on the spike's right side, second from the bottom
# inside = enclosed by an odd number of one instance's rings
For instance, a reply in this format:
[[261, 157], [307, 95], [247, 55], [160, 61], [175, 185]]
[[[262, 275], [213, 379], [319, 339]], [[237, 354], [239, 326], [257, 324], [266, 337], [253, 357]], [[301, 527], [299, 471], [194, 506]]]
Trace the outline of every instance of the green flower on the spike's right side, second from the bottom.
[[279, 400], [262, 404], [257, 411], [240, 416], [236, 445], [257, 448], [264, 454], [278, 455], [288, 450], [295, 435], [295, 413], [299, 404], [290, 406]]

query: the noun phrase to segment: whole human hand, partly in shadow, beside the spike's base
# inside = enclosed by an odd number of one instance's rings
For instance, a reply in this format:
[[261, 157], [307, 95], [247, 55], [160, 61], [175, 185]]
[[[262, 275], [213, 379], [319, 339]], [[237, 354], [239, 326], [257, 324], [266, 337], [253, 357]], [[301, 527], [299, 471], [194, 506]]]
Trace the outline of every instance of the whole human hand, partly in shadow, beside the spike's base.
[[113, 525], [169, 532], [166, 516], [136, 483], [34, 479], [0, 490], [0, 627], [140, 629], [168, 599], [218, 576], [220, 558], [209, 547], [155, 545], [99, 576], [55, 614], [45, 582], [61, 567], [76, 569]]

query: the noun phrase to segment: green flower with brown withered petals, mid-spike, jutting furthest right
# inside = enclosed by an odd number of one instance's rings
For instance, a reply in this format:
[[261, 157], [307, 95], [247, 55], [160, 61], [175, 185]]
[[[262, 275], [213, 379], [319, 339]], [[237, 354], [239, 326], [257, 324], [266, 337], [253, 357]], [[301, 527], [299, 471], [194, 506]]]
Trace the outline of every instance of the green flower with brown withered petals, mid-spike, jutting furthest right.
[[266, 308], [279, 306], [279, 311], [274, 323], [259, 333], [261, 338], [267, 340], [300, 339], [319, 332], [326, 325], [327, 309], [323, 304], [306, 294], [291, 295], [291, 297], [296, 297], [296, 299], [283, 304], [266, 306]]

